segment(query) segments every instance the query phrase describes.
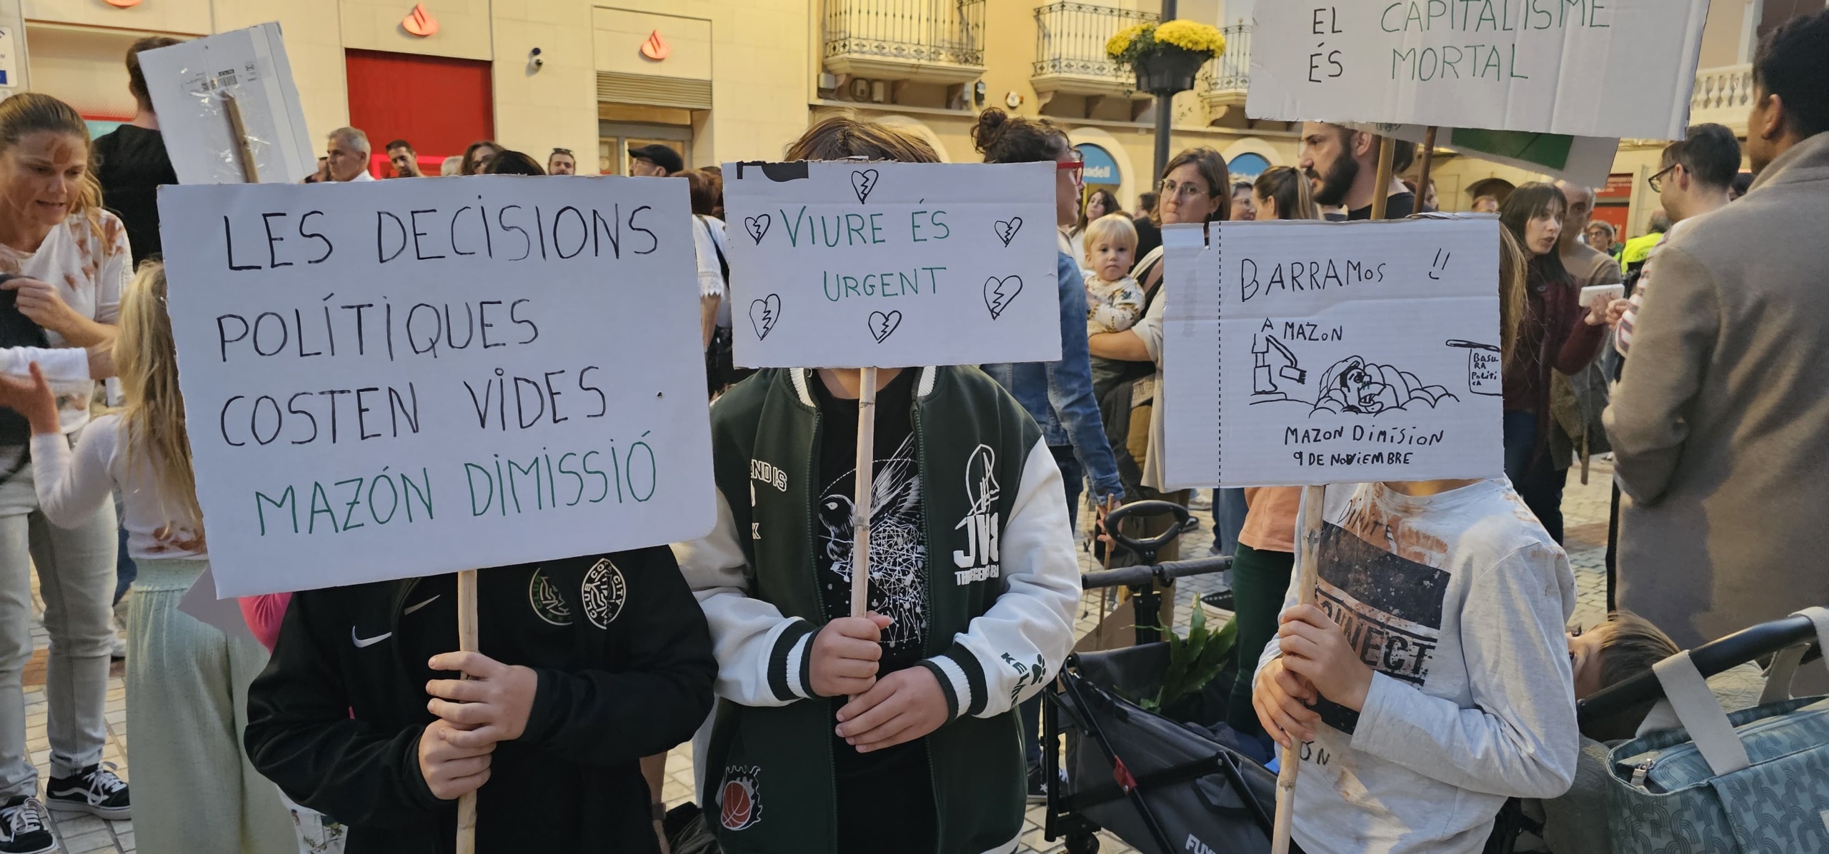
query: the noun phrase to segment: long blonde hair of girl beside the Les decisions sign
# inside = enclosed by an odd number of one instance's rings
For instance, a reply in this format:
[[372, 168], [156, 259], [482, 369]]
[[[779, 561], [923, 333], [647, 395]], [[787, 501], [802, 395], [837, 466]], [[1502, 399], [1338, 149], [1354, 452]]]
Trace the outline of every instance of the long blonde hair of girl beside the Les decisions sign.
[[165, 311], [165, 263], [144, 262], [121, 294], [121, 335], [113, 347], [126, 406], [121, 410], [126, 463], [144, 454], [166, 528], [203, 530], [198, 479], [190, 470], [185, 395], [177, 390], [177, 346]]

